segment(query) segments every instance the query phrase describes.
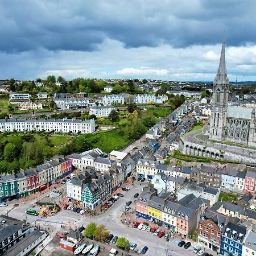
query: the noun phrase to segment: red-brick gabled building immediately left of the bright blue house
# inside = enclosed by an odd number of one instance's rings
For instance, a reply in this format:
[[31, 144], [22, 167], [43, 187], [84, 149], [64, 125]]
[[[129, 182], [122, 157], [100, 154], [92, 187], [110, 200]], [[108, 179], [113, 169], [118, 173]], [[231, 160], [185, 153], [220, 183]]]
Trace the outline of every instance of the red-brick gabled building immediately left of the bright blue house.
[[222, 233], [229, 220], [231, 216], [227, 217], [212, 210], [205, 210], [199, 221], [197, 242], [220, 253]]

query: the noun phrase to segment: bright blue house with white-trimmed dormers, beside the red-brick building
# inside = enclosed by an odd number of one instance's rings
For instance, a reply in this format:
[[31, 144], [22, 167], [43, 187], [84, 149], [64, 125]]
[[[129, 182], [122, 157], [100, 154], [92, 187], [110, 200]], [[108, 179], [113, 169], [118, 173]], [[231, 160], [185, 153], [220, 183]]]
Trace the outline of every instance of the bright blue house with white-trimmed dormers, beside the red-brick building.
[[242, 243], [246, 228], [229, 222], [222, 234], [220, 255], [242, 256]]

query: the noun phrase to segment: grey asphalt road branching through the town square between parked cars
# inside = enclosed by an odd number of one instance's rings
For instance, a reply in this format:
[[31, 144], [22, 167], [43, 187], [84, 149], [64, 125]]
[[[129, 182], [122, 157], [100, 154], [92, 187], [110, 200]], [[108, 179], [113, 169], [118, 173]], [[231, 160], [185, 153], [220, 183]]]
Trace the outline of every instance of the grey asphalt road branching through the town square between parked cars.
[[[119, 221], [119, 216], [121, 216], [126, 201], [134, 202], [134, 194], [136, 192], [140, 193], [142, 191], [143, 185], [140, 185], [138, 182], [135, 182], [134, 186], [131, 186], [129, 192], [122, 191], [124, 197], [120, 197], [119, 200], [106, 212], [105, 214], [97, 217], [85, 217], [80, 214], [70, 212], [68, 210], [61, 210], [61, 212], [57, 213], [55, 216], [48, 217], [47, 219], [38, 218], [35, 216], [27, 216], [28, 222], [35, 222], [36, 224], [40, 224], [40, 227], [45, 227], [51, 225], [54, 229], [54, 232], [63, 232], [64, 229], [60, 227], [60, 223], [64, 222], [68, 224], [71, 222], [75, 224], [75, 226], [79, 227], [81, 225], [85, 226], [90, 222], [96, 222], [97, 225], [104, 224], [114, 236], [118, 237], [126, 237], [129, 239], [130, 243], [137, 243], [138, 249], [141, 249], [143, 246], [148, 246], [148, 252], [146, 255], [150, 256], [158, 256], [158, 255], [195, 255], [192, 253], [192, 247], [188, 250], [177, 246], [174, 243], [174, 240], [170, 242], [166, 242], [164, 238], [158, 238], [154, 236], [152, 233], [143, 232], [142, 230], [127, 228]], [[20, 220], [24, 220], [26, 218], [24, 211], [32, 208], [32, 203], [21, 204], [18, 207], [14, 207], [13, 205], [9, 205], [6, 208], [1, 208], [0, 213], [6, 214], [6, 210], [10, 210], [9, 216], [14, 218], [19, 218]], [[131, 210], [135, 208], [135, 204], [130, 205]], [[134, 220], [135, 221], [135, 217]], [[192, 243], [192, 245], [195, 242]], [[168, 250], [168, 252], [167, 252]], [[212, 253], [212, 252], [211, 252]], [[212, 253], [213, 254], [213, 253]]]

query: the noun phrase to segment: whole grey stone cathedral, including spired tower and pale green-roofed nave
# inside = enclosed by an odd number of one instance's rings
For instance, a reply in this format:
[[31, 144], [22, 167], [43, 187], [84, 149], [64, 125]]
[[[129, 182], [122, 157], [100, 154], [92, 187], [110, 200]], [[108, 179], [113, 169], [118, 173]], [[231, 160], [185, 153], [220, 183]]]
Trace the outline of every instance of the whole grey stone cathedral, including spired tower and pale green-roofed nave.
[[256, 147], [255, 109], [228, 106], [229, 79], [226, 73], [225, 40], [220, 64], [213, 82], [212, 114], [207, 131], [209, 139]]

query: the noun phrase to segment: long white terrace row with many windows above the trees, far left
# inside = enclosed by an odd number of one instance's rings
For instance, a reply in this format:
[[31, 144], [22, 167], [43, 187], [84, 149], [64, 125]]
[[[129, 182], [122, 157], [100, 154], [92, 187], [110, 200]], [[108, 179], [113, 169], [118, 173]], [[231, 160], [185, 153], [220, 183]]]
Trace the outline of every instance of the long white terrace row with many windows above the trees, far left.
[[0, 119], [0, 131], [54, 131], [55, 133], [93, 133], [94, 119]]

